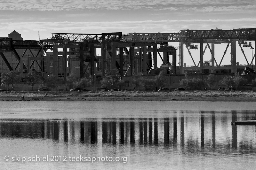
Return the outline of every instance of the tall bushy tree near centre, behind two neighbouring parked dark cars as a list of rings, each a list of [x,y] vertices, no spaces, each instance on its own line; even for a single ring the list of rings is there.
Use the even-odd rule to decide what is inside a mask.
[[[105,69],[105,77],[102,79],[102,84],[111,89],[118,86],[118,81],[121,80],[119,71],[114,69]]]

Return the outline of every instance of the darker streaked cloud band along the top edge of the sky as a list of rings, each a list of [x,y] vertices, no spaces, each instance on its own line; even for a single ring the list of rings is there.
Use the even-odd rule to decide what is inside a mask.
[[[2,11],[255,9],[254,0],[0,0]],[[207,10],[208,9],[208,10]]]

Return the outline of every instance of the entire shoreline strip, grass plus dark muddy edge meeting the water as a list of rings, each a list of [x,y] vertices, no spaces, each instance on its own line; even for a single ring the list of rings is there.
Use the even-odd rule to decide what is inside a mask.
[[[0,101],[210,101],[256,102],[254,91],[0,92]]]

